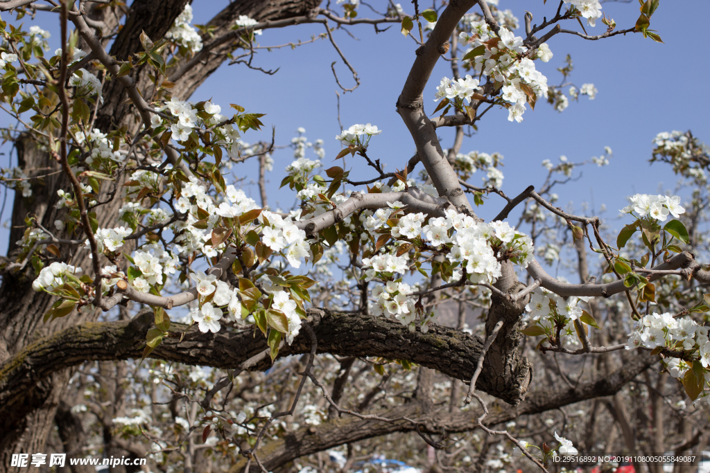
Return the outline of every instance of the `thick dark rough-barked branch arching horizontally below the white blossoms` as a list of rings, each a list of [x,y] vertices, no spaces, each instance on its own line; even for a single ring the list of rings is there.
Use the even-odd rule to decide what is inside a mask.
[[[376,316],[311,309],[308,321],[317,335],[318,352],[410,360],[456,379],[471,379],[483,345],[480,338],[452,328],[435,326],[427,333],[410,332],[398,321]],[[4,413],[21,409],[18,406],[28,391],[60,369],[89,360],[141,357],[146,334],[152,326],[153,313],[147,312],[132,321],[75,325],[28,345],[0,366],[0,419]],[[237,333],[223,328],[219,333],[200,333],[195,327],[178,323],[170,328],[175,332],[163,339],[151,357],[186,365],[234,369],[268,348],[266,339],[254,337],[253,330]],[[180,342],[181,333],[188,328]],[[311,347],[310,338],[302,333],[292,345],[285,345],[279,356],[307,353]],[[523,369],[529,370],[527,360],[522,360]],[[271,361],[265,357],[255,368],[270,366]],[[532,373],[529,375],[531,377]],[[527,385],[520,385],[515,377],[501,377],[487,366],[481,372],[478,387],[513,405],[523,399],[527,389]]]

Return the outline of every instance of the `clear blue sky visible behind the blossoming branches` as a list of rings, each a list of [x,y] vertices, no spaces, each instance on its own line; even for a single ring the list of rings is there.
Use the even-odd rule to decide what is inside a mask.
[[[222,9],[226,0],[195,0],[194,23],[204,23]],[[378,2],[380,4],[382,2]],[[503,9],[511,9],[522,20],[528,9],[540,22],[542,16],[552,16],[557,2],[542,0],[501,0]],[[412,6],[404,3],[405,11]],[[638,5],[632,3],[605,3],[603,11],[616,20],[618,28],[633,26],[638,17]],[[411,12],[410,12],[411,13]],[[369,16],[366,6],[360,8],[361,16]],[[571,80],[577,85],[594,83],[599,89],[594,101],[582,97],[579,103],[570,104],[563,113],[554,111],[547,104],[537,110],[528,110],[523,123],[507,121],[507,111],[493,109],[479,123],[479,132],[464,140],[462,152],[480,150],[501,152],[505,156],[503,172],[506,179],[503,191],[508,195],[518,194],[530,184],[539,186],[545,177],[540,162],[550,159],[557,162],[560,155],[579,162],[599,156],[604,146],[613,149],[614,157],[608,167],[587,166],[583,175],[574,184],[559,187],[560,204],[574,201],[594,201],[594,206],[605,203],[616,209],[626,205],[626,196],[635,192],[655,193],[659,184],[667,189],[674,187],[675,177],[669,167],[648,164],[652,138],[660,131],[692,129],[701,140],[710,140],[710,128],[706,110],[710,98],[706,91],[706,78],[710,65],[701,49],[706,18],[710,17],[710,2],[704,0],[661,1],[660,8],[651,19],[651,28],[658,30],[665,44],[654,43],[641,35],[626,35],[600,41],[586,41],[572,35],[557,35],[550,40],[555,56],[547,64],[536,62],[537,69],[547,75],[551,84],[561,76],[555,69],[562,66],[568,53],[574,60]],[[4,13],[8,21],[9,15]],[[38,13],[35,21],[23,19],[26,26],[38,24],[53,33],[50,41],[57,46],[58,27],[54,13]],[[579,25],[567,23],[565,28],[579,29]],[[297,40],[308,40],[311,35],[323,31],[322,25],[300,25],[283,29],[265,30],[258,37],[261,45],[279,45]],[[603,31],[601,22],[589,33]],[[356,91],[342,94],[340,111],[343,126],[354,123],[373,123],[383,130],[371,141],[368,154],[388,163],[386,170],[403,167],[414,153],[413,142],[403,122],[395,111],[395,101],[414,60],[416,49],[413,41],[399,33],[398,26],[376,34],[371,26],[350,28],[351,38],[342,30],[334,32],[334,38],[361,77],[361,86]],[[594,33],[593,33],[594,32]],[[523,34],[522,30],[518,34]],[[327,152],[325,167],[330,167],[340,149],[334,136],[339,133],[337,122],[337,84],[332,77],[330,65],[337,61],[339,79],[351,87],[352,78],[339,60],[337,52],[327,40],[304,45],[295,50],[283,48],[267,52],[262,50],[255,64],[264,69],[280,67],[278,73],[268,76],[249,70],[243,65],[223,65],[212,77],[197,89],[192,99],[209,99],[221,104],[223,111],[230,103],[240,104],[248,111],[266,113],[263,133],[250,131],[244,140],[254,142],[271,138],[271,126],[276,128],[276,142],[286,145],[298,127],[307,130],[310,140],[322,138]],[[451,77],[448,63],[439,61],[425,92],[425,107],[429,113],[435,108],[435,87],[442,76]],[[0,118],[2,126],[9,122]],[[447,148],[452,141],[452,130],[441,130],[442,146]],[[2,149],[9,151],[6,145]],[[272,206],[293,204],[293,194],[288,189],[276,191],[283,178],[283,168],[292,160],[290,150],[275,152],[274,172],[268,179],[274,189],[269,193]],[[0,157],[0,165],[6,167],[8,156]],[[354,167],[354,178],[373,177],[364,162],[347,162]],[[246,177],[248,183],[256,167],[246,163],[234,167],[236,177]],[[480,184],[480,176],[474,175],[471,182]],[[245,189],[258,199],[256,186]],[[11,194],[9,203],[11,202]],[[496,215],[503,202],[493,196],[479,208],[484,218]],[[11,205],[5,208],[2,221],[8,221]],[[0,231],[0,247],[6,248],[6,230]]]

